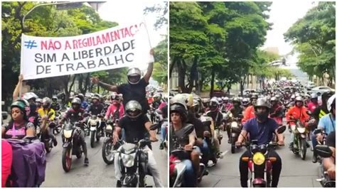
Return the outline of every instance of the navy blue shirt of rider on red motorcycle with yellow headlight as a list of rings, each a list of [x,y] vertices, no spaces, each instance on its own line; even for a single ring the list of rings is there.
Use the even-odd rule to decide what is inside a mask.
[[[274,119],[268,118],[267,121],[260,123],[257,118],[248,119],[243,125],[243,130],[250,134],[250,140],[257,140],[257,144],[268,144],[272,141],[272,134],[279,127]]]

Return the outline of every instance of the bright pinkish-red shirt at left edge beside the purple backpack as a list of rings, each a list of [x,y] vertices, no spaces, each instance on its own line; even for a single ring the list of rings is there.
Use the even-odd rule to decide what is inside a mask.
[[[13,153],[11,150],[11,144],[6,140],[1,140],[1,188],[5,187],[6,180],[11,174],[11,161]]]

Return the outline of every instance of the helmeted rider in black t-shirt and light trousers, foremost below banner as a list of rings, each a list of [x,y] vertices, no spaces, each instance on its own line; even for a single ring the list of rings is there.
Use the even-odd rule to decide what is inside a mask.
[[[148,135],[150,136],[150,141],[158,141],[156,132],[150,130],[151,121],[146,115],[142,114],[141,104],[139,104],[139,102],[135,100],[127,102],[125,105],[125,112],[126,116],[119,120],[114,130],[114,144],[119,140],[119,134],[122,129],[125,130],[125,141],[127,143],[137,144],[138,141],[144,139]],[[154,178],[154,184],[156,185],[156,188],[163,188],[164,185],[161,183],[159,169],[157,168],[156,160],[154,159],[154,153],[149,146],[146,146],[145,148],[148,152],[148,166],[149,171]],[[122,172],[119,166],[119,153],[114,155],[114,173],[117,179],[117,188],[120,188],[122,186]]]

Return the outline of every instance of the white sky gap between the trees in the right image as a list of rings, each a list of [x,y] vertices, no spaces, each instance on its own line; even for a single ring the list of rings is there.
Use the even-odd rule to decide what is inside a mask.
[[[316,2],[313,4],[312,1],[273,1],[268,19],[269,23],[273,23],[273,26],[272,30],[267,31],[267,40],[264,42],[262,49],[277,47],[279,48],[279,55],[290,53],[293,46],[284,41],[283,34],[316,4]],[[287,63],[292,68],[296,68],[297,55],[295,53],[287,58]]]

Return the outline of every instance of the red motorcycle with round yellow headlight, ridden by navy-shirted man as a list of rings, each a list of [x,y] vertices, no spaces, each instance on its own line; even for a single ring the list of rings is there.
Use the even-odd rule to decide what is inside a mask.
[[[286,126],[279,126],[278,134],[282,134],[286,130]],[[269,157],[270,148],[278,146],[278,144],[269,143],[257,145],[257,140],[246,142],[245,145],[252,154],[251,157],[242,157],[242,161],[248,162],[250,174],[250,188],[269,188],[272,180],[272,162],[277,161],[275,157]]]

